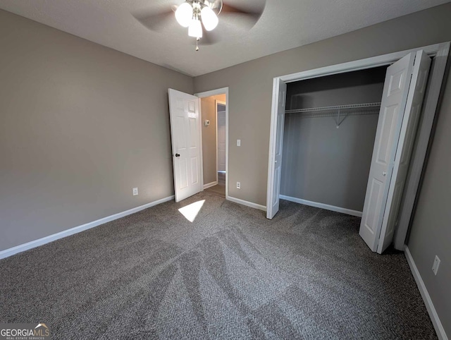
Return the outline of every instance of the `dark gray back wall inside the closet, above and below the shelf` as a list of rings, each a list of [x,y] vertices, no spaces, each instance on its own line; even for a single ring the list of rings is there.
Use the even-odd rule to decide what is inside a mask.
[[[289,83],[288,109],[381,102],[386,69]],[[362,212],[378,114],[337,121],[285,115],[280,194]]]

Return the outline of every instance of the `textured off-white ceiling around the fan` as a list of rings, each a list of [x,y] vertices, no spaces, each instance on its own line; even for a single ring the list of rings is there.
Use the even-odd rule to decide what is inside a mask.
[[[243,0],[224,0],[242,4]],[[246,0],[261,2],[264,0]],[[168,17],[161,32],[147,29],[132,13],[168,10],[183,0],[0,0],[0,8],[106,47],[187,75],[202,75],[278,51],[316,42],[449,0],[267,0],[252,29],[219,16],[226,37],[194,51],[187,28]]]

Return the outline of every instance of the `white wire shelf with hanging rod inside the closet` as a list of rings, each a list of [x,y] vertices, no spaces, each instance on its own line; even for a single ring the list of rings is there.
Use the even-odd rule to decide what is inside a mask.
[[[363,104],[348,104],[335,105],[333,107],[309,107],[307,109],[285,110],[285,114],[303,114],[302,116],[335,116],[337,111],[342,114],[375,114],[379,112],[381,103],[363,103]],[[334,112],[330,112],[334,111]],[[320,114],[317,114],[320,113]],[[321,114],[322,113],[322,114]]]

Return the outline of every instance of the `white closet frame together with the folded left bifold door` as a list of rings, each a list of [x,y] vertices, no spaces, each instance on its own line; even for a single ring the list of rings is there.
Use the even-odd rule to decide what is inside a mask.
[[[369,59],[342,63],[335,66],[327,66],[315,70],[294,73],[274,78],[273,82],[273,105],[271,110],[271,130],[270,130],[270,147],[268,157],[268,188],[267,188],[267,217],[271,219],[278,211],[278,200],[280,195],[280,172],[282,158],[282,140],[283,140],[283,123],[285,118],[285,98],[287,83],[306,80],[311,78],[319,78],[325,75],[333,75],[350,71],[359,71],[377,66],[388,66],[395,61],[412,52],[424,50],[428,56],[433,58],[431,68],[431,77],[428,80],[428,92],[424,98],[424,109],[421,126],[419,127],[416,138],[416,148],[412,163],[410,166],[409,181],[405,186],[404,197],[406,198],[402,205],[400,217],[398,219],[397,235],[395,238],[395,248],[402,249],[404,247],[405,236],[409,228],[409,220],[412,215],[416,191],[419,187],[421,171],[426,158],[428,140],[431,136],[431,128],[435,116],[435,110],[438,104],[438,96],[443,81],[447,55],[450,43],[435,44],[419,49],[409,51],[400,51],[384,56],[376,56]],[[282,128],[280,128],[282,126]]]

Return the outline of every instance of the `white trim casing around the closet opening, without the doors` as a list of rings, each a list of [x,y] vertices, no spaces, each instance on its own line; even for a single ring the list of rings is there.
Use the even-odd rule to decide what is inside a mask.
[[[292,83],[298,80],[307,80],[311,78],[319,78],[326,75],[334,75],[338,73],[347,73],[351,71],[359,71],[367,68],[375,68],[378,66],[388,66],[395,61],[398,61],[406,54],[419,51],[423,49],[428,56],[435,57],[429,73],[428,86],[426,89],[426,96],[422,109],[422,117],[420,121],[419,130],[416,135],[416,147],[412,154],[412,161],[409,165],[409,178],[404,188],[404,199],[400,209],[400,218],[398,221],[397,232],[395,235],[395,248],[404,250],[404,243],[409,230],[410,220],[416,202],[416,193],[419,189],[421,181],[421,174],[424,168],[428,152],[428,143],[431,138],[433,121],[435,119],[435,111],[438,107],[438,99],[440,96],[440,89],[442,87],[443,78],[445,75],[445,68],[447,64],[448,54],[450,53],[450,42],[443,42],[440,44],[432,44],[426,47],[418,47],[415,49],[407,49],[404,51],[397,51],[390,54],[383,54],[381,56],[373,56],[371,58],[360,59],[357,61],[350,61],[347,63],[339,63],[337,65],[326,66],[321,68],[314,68],[308,71],[291,73],[288,75],[280,75],[273,78],[273,103],[271,105],[271,129],[269,135],[269,152],[268,152],[268,186],[266,188],[266,208],[269,210],[272,202],[270,181],[274,177],[273,164],[273,150],[276,149],[276,136],[274,135],[277,124],[277,103],[274,103],[276,93],[279,90],[279,83]],[[280,195],[280,193],[279,193]],[[268,217],[268,213],[266,214]]]

